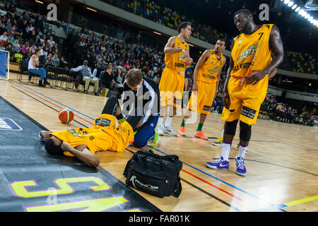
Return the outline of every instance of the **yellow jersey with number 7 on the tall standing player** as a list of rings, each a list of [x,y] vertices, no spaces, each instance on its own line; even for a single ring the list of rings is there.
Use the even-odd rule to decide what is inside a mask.
[[[240,34],[235,37],[232,48],[234,67],[231,76],[245,78],[252,75],[252,71],[261,71],[271,63],[269,36],[273,24],[264,24],[252,35]]]

